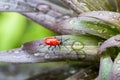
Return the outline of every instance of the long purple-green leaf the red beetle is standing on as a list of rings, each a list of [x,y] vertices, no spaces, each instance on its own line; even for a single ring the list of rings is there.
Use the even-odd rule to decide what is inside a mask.
[[[91,35],[56,36],[63,44],[46,45],[43,39],[25,43],[21,48],[0,52],[1,62],[30,63],[48,61],[98,61],[97,49],[101,38]],[[49,49],[48,49],[49,48]]]

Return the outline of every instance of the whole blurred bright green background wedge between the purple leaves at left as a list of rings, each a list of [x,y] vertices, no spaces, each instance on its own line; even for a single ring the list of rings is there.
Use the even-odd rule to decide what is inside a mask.
[[[0,50],[20,47],[21,44],[56,33],[13,12],[0,13]]]

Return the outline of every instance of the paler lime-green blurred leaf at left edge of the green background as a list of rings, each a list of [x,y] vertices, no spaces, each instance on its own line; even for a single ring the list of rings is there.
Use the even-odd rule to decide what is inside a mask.
[[[4,13],[2,17],[0,50],[20,46],[27,20],[18,13]]]

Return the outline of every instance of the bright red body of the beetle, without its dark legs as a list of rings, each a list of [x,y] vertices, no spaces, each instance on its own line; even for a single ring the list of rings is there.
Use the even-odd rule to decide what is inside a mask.
[[[57,46],[60,45],[61,41],[58,40],[57,38],[46,38],[45,39],[45,44],[49,45],[49,46]]]

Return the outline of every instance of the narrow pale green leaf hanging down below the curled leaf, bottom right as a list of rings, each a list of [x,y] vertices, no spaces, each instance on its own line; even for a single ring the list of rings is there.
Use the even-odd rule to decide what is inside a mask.
[[[104,53],[100,59],[100,69],[98,80],[109,80],[111,75],[111,70],[113,66],[113,61],[107,53]]]

